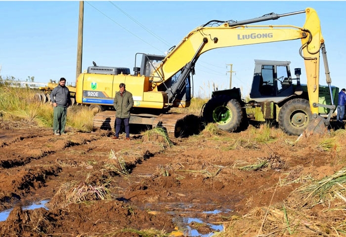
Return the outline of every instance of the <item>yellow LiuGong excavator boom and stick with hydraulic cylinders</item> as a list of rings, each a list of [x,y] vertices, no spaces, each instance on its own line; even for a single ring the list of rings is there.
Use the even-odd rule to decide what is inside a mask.
[[[276,20],[280,17],[302,13],[306,14],[303,27],[292,25],[251,25],[257,22]],[[217,26],[213,26],[215,24]],[[169,52],[162,63],[153,72],[152,76],[160,75],[161,78],[156,81],[152,79],[152,81],[154,81],[153,90],[155,91],[155,86],[159,86],[166,80],[171,79],[177,72],[181,71],[177,82],[172,88],[168,88],[166,91],[169,101],[172,102],[183,88],[188,75],[194,73],[194,66],[199,56],[211,49],[299,39],[302,41],[299,52],[305,63],[310,108],[312,114],[317,115],[319,52],[321,48],[329,86],[331,84],[331,79],[329,76],[320,20],[316,11],[312,8],[281,15],[271,13],[239,22],[214,20],[194,29]]]

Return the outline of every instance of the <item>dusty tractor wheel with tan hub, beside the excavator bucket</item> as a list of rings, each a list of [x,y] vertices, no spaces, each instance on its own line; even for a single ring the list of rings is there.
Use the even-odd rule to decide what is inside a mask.
[[[310,104],[307,100],[297,98],[282,106],[279,112],[279,127],[289,135],[299,136],[312,119]]]

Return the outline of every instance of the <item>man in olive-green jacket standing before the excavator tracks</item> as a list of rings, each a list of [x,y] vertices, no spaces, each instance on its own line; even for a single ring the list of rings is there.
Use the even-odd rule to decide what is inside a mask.
[[[130,109],[133,106],[132,94],[125,89],[125,84],[119,84],[119,91],[115,94],[113,101],[115,114],[115,136],[113,139],[119,138],[121,123],[124,121],[126,140],[130,140]]]

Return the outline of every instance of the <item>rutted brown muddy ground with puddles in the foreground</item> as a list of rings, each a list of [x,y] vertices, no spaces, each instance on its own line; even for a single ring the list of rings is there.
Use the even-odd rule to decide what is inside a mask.
[[[127,141],[103,130],[56,136],[48,128],[0,129],[0,210],[14,207],[0,236],[206,236],[213,225],[280,202],[300,185],[278,182],[341,168],[340,155],[316,149],[323,138],[295,143],[282,133],[256,142],[254,131],[261,132],[202,131],[174,138],[170,147],[140,133]],[[258,160],[270,166],[237,168]],[[46,208],[22,208],[40,200],[48,200]]]

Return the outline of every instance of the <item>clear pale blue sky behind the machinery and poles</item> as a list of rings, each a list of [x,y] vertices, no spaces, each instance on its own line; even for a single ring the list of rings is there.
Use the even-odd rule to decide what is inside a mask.
[[[164,54],[196,27],[209,20],[245,20],[275,12],[314,8],[321,21],[332,85],[344,88],[346,1],[85,1],[82,71],[100,66],[130,68],[137,52]],[[0,75],[36,82],[64,77],[75,82],[79,1],[0,1]],[[305,14],[281,17],[261,25],[302,27]],[[194,95],[209,96],[213,83],[249,94],[254,60],[291,61],[302,68],[300,40],[227,47],[201,55],[194,76]],[[321,58],[322,59],[322,58]],[[322,61],[321,61],[322,62]],[[320,65],[320,84],[326,84]]]

